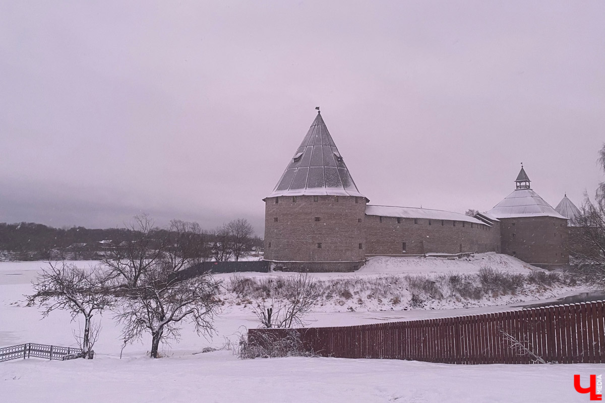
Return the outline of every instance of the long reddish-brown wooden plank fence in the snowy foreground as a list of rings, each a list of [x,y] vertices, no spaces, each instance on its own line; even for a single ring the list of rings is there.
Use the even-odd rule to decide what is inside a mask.
[[[296,332],[304,349],[342,358],[450,364],[605,363],[604,302],[345,327],[250,329],[251,343]]]

